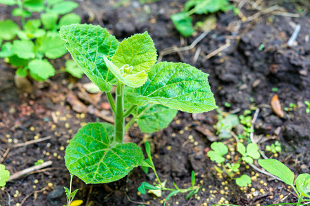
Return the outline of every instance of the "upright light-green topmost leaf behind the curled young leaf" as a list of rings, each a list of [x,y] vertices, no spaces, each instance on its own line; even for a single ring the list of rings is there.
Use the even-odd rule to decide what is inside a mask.
[[[156,62],[157,54],[153,40],[147,32],[125,38],[116,49],[112,62],[116,67],[132,66],[132,73],[151,69]]]

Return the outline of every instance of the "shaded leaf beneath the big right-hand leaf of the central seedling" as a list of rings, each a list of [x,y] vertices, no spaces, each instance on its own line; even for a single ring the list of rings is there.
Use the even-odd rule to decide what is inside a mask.
[[[159,104],[138,106],[132,115],[138,117],[136,123],[143,133],[154,133],[166,128],[176,117],[178,111]]]

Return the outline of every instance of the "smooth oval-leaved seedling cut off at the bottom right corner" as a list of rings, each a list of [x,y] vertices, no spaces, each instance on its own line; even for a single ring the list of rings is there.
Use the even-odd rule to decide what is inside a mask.
[[[300,174],[296,178],[296,187],[293,185],[295,175],[287,166],[276,159],[259,159],[262,168],[278,176],[287,185],[290,185],[298,196],[297,206],[304,201],[310,201],[310,174]]]

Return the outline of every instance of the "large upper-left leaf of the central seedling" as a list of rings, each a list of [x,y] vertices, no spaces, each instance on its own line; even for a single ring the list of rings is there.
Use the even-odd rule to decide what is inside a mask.
[[[100,26],[77,24],[61,27],[60,34],[76,65],[101,91],[110,91],[109,82],[114,76],[107,69],[103,55],[114,55],[118,47],[115,36]]]

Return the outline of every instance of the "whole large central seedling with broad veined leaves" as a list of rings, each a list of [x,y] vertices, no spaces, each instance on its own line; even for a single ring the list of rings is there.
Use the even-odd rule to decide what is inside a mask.
[[[168,126],[177,110],[202,113],[217,107],[207,73],[184,63],[155,64],[156,49],[147,32],[121,43],[94,25],[63,26],[60,34],[76,65],[105,91],[115,116],[114,126],[83,126],[65,150],[69,172],[85,183],[117,181],[143,163],[141,148],[124,143],[134,122],[142,132],[152,133]]]

